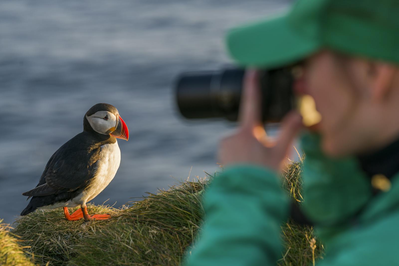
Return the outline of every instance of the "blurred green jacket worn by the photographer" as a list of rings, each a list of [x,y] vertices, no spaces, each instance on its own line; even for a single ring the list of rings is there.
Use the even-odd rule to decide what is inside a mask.
[[[389,191],[372,197],[370,179],[355,158],[326,157],[314,134],[302,137],[302,148],[302,211],[316,223],[326,250],[318,265],[399,265],[399,175]],[[185,265],[276,265],[280,225],[289,212],[277,173],[231,167],[204,197],[203,231]]]

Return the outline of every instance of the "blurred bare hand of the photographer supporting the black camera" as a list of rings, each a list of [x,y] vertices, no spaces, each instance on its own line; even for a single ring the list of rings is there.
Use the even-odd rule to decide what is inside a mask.
[[[252,164],[279,170],[287,156],[292,140],[302,126],[302,118],[296,111],[288,113],[276,141],[266,136],[261,122],[261,97],[258,87],[258,73],[248,70],[245,74],[244,92],[241,100],[240,128],[232,136],[221,140],[219,163]]]

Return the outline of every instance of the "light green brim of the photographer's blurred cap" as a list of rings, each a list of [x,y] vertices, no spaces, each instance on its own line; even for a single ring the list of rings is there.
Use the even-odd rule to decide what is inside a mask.
[[[317,51],[320,43],[299,35],[288,25],[286,16],[231,30],[227,49],[240,65],[280,67]]]

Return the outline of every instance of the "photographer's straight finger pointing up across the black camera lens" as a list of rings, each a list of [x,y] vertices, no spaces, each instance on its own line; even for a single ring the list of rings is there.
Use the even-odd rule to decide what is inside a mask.
[[[261,91],[259,73],[255,69],[249,69],[245,73],[239,120],[242,128],[251,130],[261,123]]]

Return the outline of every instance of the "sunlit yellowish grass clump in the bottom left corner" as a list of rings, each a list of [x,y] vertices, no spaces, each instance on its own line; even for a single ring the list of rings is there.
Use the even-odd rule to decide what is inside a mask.
[[[12,227],[1,223],[0,220],[0,265],[9,266],[34,266],[31,259],[26,256],[26,248],[21,246],[13,233]]]

